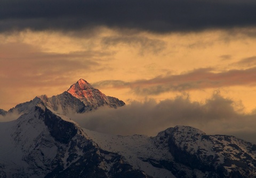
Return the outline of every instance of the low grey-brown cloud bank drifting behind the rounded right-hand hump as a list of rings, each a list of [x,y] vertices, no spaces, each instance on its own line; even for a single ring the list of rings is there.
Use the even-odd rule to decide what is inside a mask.
[[[235,135],[256,143],[256,113],[245,114],[241,105],[239,108],[216,92],[203,104],[178,96],[160,103],[133,101],[118,109],[100,108],[70,117],[83,128],[110,134],[154,136],[175,125],[189,125],[206,134]]]

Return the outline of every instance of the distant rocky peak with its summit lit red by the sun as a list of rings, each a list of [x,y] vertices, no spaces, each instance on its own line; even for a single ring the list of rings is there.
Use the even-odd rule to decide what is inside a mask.
[[[122,100],[106,96],[98,89],[93,88],[91,84],[84,79],[80,79],[60,95],[50,98],[46,95],[37,96],[31,101],[15,106],[10,109],[9,112],[27,113],[31,107],[34,107],[38,103],[44,104],[62,114],[84,113],[101,106],[117,108],[125,105]]]

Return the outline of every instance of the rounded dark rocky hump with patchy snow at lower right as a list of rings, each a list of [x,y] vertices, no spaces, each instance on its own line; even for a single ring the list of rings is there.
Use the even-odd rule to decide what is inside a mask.
[[[176,126],[158,133],[155,140],[168,145],[176,163],[201,171],[202,177],[256,176],[256,145],[242,139]]]

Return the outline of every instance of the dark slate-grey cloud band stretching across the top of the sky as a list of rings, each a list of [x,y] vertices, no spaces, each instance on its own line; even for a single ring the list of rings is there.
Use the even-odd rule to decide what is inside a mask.
[[[98,26],[153,32],[255,27],[252,0],[3,0],[0,31]]]

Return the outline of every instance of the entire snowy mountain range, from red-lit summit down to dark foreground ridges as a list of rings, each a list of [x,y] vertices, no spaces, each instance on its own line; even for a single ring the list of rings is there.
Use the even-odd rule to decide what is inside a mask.
[[[21,115],[0,123],[0,177],[256,177],[256,145],[233,136],[190,126],[156,137],[110,135],[65,115],[103,105],[124,103],[81,79],[60,95],[10,109]]]

